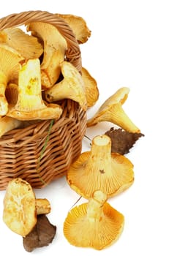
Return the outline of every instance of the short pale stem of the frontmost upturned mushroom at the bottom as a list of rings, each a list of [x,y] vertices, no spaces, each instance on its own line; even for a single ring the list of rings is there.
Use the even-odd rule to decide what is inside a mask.
[[[89,222],[100,221],[102,219],[102,206],[106,202],[107,197],[102,191],[95,191],[93,197],[89,200],[87,206],[87,217]]]

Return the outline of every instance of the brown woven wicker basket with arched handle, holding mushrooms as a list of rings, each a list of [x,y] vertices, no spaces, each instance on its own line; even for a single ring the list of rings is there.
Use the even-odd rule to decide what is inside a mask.
[[[20,12],[0,19],[0,30],[30,22],[50,23],[67,40],[66,60],[81,70],[80,48],[62,18],[44,11]],[[0,190],[12,178],[23,178],[34,188],[42,188],[64,176],[81,153],[86,132],[86,112],[77,102],[64,99],[62,116],[40,121],[23,129],[13,129],[0,138]]]

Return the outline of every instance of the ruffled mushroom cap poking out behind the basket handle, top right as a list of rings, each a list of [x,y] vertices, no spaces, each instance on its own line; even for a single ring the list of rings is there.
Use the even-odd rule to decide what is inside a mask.
[[[72,29],[79,44],[86,42],[91,36],[91,31],[86,25],[86,21],[82,17],[69,14],[57,14],[63,18]]]

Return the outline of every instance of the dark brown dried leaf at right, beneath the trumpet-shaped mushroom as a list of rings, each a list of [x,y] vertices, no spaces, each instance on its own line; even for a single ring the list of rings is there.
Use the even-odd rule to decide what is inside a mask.
[[[111,152],[117,152],[119,154],[129,153],[129,149],[135,144],[135,142],[143,135],[143,133],[127,132],[121,128],[110,128],[105,135],[111,138]]]

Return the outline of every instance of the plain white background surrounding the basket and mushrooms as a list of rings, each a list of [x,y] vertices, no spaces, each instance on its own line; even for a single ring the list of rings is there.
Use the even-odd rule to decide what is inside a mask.
[[[109,200],[125,217],[124,231],[116,244],[97,251],[67,242],[63,222],[79,196],[61,178],[35,190],[37,197],[50,200],[48,218],[57,226],[57,233],[52,244],[31,255],[177,255],[176,1],[6,0],[0,16],[28,10],[79,15],[86,20],[91,37],[80,46],[83,67],[99,87],[99,100],[88,117],[117,89],[127,86],[130,92],[124,110],[145,135],[127,154],[134,164],[135,183]],[[93,138],[110,127],[112,124],[102,123],[86,133]],[[83,151],[89,148],[89,141],[83,139]],[[1,191],[0,253],[29,255],[22,238],[2,222],[3,198]]]

